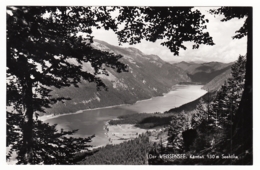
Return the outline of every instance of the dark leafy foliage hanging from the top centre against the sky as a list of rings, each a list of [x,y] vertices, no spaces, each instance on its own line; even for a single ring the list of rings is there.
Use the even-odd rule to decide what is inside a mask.
[[[119,10],[118,23],[124,28],[117,31],[120,42],[140,43],[142,39],[168,47],[174,55],[186,50],[184,41],[193,41],[193,49],[200,44],[214,45],[206,29],[209,22],[199,10],[192,7],[123,7]]]

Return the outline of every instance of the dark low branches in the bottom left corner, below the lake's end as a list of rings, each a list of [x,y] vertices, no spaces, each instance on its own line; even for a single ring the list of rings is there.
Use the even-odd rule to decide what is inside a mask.
[[[17,150],[17,164],[74,164],[75,155],[77,153],[82,150],[90,151],[89,148],[91,146],[88,143],[91,142],[91,139],[94,137],[69,137],[69,135],[72,135],[77,130],[63,131],[61,129],[61,131],[58,132],[56,125],[49,125],[40,120],[34,120],[32,131],[33,141],[31,143],[30,160],[28,162],[24,160],[23,154],[21,154],[23,151],[21,150],[21,148],[23,148],[23,142],[20,142],[22,141],[22,136],[20,135],[18,136],[19,138],[14,139],[15,142],[18,141],[12,146],[12,150]],[[10,156],[11,152],[8,157]]]

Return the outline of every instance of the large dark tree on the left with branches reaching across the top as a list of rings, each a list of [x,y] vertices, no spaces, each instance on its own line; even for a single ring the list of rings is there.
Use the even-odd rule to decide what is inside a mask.
[[[119,15],[113,19],[116,9]],[[105,67],[127,70],[120,55],[91,47],[93,27],[112,29],[123,43],[162,39],[178,55],[185,41],[193,41],[193,48],[214,45],[204,31],[206,22],[192,7],[7,7],[7,144],[19,150],[21,163],[34,163],[34,128],[42,128],[38,113],[67,99],[52,98],[51,87],[77,86],[82,79],[105,87],[96,76],[108,74]],[[84,71],[83,62],[90,62],[95,73]]]

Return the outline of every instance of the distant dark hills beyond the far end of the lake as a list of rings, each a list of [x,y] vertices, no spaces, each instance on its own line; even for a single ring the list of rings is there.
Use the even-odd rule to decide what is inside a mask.
[[[208,63],[195,63],[195,62],[180,62],[175,63],[173,66],[182,68],[192,82],[207,84],[215,77],[231,69],[233,63],[221,63],[221,62],[208,62]],[[230,72],[230,71],[229,71]],[[221,77],[221,76],[220,76]],[[225,76],[222,75],[224,78]],[[221,79],[221,78],[219,78]]]

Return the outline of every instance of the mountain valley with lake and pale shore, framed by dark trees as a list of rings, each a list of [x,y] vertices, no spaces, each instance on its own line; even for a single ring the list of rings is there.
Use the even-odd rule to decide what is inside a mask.
[[[214,92],[220,88],[229,77],[232,65],[219,62],[170,64],[156,55],[146,55],[135,48],[117,47],[100,40],[95,40],[93,47],[123,55],[120,60],[128,66],[129,71],[117,73],[106,68],[108,75],[98,76],[106,84],[107,90],[97,90],[95,84],[87,81],[79,84],[78,88],[55,89],[54,96],[70,97],[72,100],[47,109],[48,114],[40,119],[58,124],[59,129],[79,129],[75,137],[95,134],[91,143],[94,146],[121,143],[144,133],[144,129],[169,124],[166,123],[166,119],[170,120],[171,117],[169,113],[193,111],[199,103],[198,98],[205,98],[203,95],[207,91]],[[89,63],[83,63],[83,69],[93,71]],[[149,124],[148,121],[148,124],[138,125],[138,121],[145,117],[151,118],[146,114],[154,113],[167,115],[162,117],[161,124]],[[141,114],[144,118],[139,119],[139,115],[135,114]],[[121,120],[116,119],[128,115],[137,116],[136,122],[127,122],[131,120],[127,118],[126,122],[121,122],[123,126],[118,127]],[[116,126],[113,125],[115,122]],[[124,126],[127,128],[122,128]],[[120,129],[122,132],[119,132]],[[121,137],[116,137],[116,133]]]

